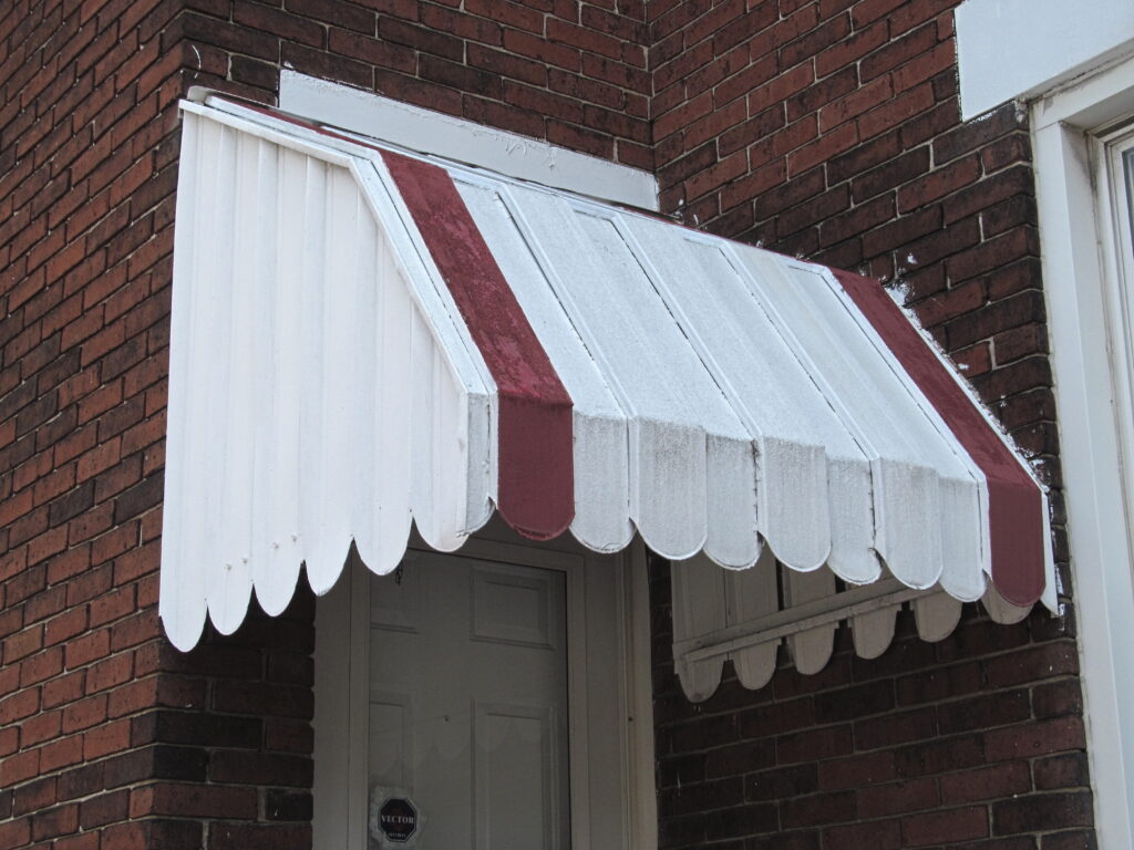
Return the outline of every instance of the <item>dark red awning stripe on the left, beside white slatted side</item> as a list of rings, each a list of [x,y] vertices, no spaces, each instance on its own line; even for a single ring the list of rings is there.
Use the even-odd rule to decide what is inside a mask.
[[[497,383],[497,508],[521,534],[555,537],[575,517],[570,396],[449,173],[388,151],[382,159]]]

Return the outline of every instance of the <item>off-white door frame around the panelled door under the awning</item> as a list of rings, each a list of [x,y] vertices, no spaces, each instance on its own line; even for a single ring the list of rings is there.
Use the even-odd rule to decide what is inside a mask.
[[[412,542],[407,569],[429,551],[420,541]],[[601,555],[569,539],[523,542],[493,521],[446,556],[565,575],[572,848],[657,848],[650,602],[641,539],[621,553]],[[352,554],[338,584],[316,603],[313,833],[318,848],[367,848],[371,587],[371,573]],[[589,615],[613,618],[617,646],[595,645],[596,630],[586,626]],[[617,678],[617,694],[596,687],[603,675]],[[609,709],[611,698],[618,700],[617,712]],[[616,794],[610,793],[611,783],[618,787]]]

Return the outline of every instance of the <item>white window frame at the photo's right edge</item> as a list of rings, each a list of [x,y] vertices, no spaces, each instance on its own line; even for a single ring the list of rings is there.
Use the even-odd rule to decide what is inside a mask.
[[[1061,432],[1084,717],[1103,848],[1134,847],[1134,583],[1110,357],[1116,281],[1100,246],[1099,128],[1134,113],[1134,58],[1032,104],[1040,244]],[[1124,451],[1125,449],[1125,451]]]

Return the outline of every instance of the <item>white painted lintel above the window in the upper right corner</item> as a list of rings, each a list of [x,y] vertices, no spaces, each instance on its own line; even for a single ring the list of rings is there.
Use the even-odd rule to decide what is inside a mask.
[[[965,119],[1134,52],[1129,0],[965,0],[956,27]]]

